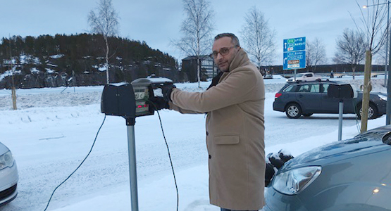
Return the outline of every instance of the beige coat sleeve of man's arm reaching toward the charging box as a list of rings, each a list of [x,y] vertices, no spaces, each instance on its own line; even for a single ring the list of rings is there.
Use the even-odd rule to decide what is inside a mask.
[[[175,106],[185,110],[206,113],[249,100],[254,96],[256,83],[259,82],[256,70],[250,67],[237,68],[230,72],[222,82],[202,93],[174,89],[171,99]]]

